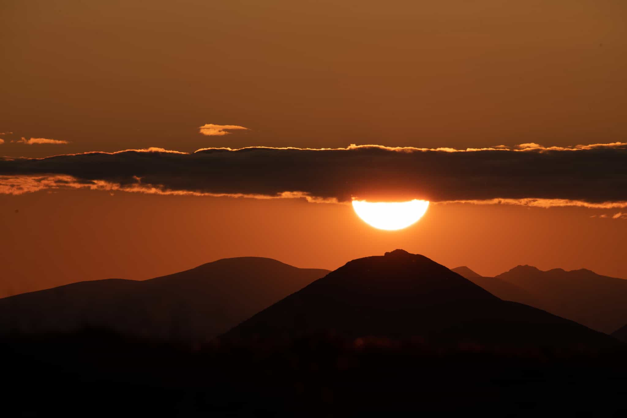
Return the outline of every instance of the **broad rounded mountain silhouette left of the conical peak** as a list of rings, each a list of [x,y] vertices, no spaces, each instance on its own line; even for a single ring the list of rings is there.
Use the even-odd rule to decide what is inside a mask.
[[[145,281],[82,281],[0,299],[0,334],[107,328],[148,339],[209,340],[327,273],[239,257]]]

